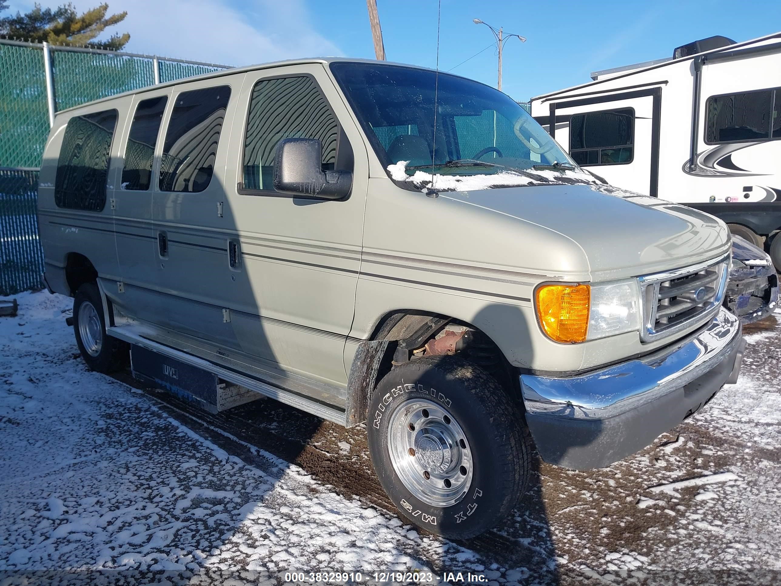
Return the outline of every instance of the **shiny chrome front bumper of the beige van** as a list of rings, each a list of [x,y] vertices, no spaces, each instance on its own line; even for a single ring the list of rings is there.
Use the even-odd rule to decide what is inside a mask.
[[[540,456],[577,470],[608,466],[651,444],[734,383],[745,341],[726,309],[701,331],[647,356],[576,377],[521,375]]]

